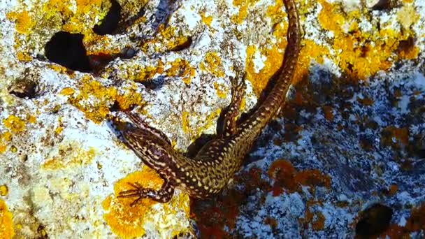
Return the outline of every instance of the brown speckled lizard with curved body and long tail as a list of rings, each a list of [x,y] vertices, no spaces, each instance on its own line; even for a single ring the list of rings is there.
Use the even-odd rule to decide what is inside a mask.
[[[250,152],[257,136],[271,120],[284,102],[300,50],[301,26],[294,0],[284,0],[289,28],[288,45],[284,52],[282,72],[264,103],[244,122],[237,124],[240,102],[245,92],[245,77],[234,83],[229,111],[224,115],[224,129],[217,138],[210,140],[192,159],[176,152],[168,138],[150,126],[134,113],[127,113],[137,126],[123,132],[125,142],[136,152],[147,166],[156,170],[164,184],[161,189],[143,188],[137,182],[130,189],[121,191],[118,197],[135,197],[135,205],[141,198],[152,198],[165,203],[171,199],[174,189],[185,191],[193,198],[206,198],[221,191],[239,170],[245,155]],[[238,74],[236,74],[238,78]]]

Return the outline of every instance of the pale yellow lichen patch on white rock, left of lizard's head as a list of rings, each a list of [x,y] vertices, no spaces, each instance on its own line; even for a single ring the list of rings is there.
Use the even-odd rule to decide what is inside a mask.
[[[89,147],[88,150],[82,149],[78,146],[77,142],[60,145],[58,151],[57,155],[53,155],[46,159],[41,164],[41,167],[49,170],[58,170],[83,166],[89,164],[96,155],[94,147]]]

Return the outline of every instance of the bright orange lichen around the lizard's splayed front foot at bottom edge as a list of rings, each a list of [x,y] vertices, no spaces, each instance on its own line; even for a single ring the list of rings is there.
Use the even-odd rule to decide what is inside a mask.
[[[114,185],[115,195],[119,194],[120,191],[132,189],[129,186],[129,182],[138,182],[143,187],[160,189],[164,180],[162,180],[155,171],[144,166],[142,171],[136,171],[130,173],[127,177],[122,178]],[[152,201],[150,198],[143,198],[133,207],[130,204],[136,198],[114,198],[108,196],[102,203],[103,209],[107,210],[103,215],[106,223],[110,226],[110,229],[121,236],[122,238],[134,238],[143,236],[145,234],[145,220],[146,222],[154,222],[154,226],[166,226],[168,214],[176,214],[177,211],[184,212],[189,215],[189,197],[185,194],[180,194],[179,197],[173,197],[170,202],[163,203],[164,215],[161,219],[150,219],[150,214],[154,209],[152,205],[157,204],[156,201]],[[182,209],[182,211],[180,210]],[[165,220],[165,222],[163,222]],[[159,225],[161,224],[161,225]],[[170,225],[168,225],[169,227]],[[177,233],[184,229],[176,226],[175,229],[171,230],[171,234]],[[169,237],[168,235],[167,237]]]

